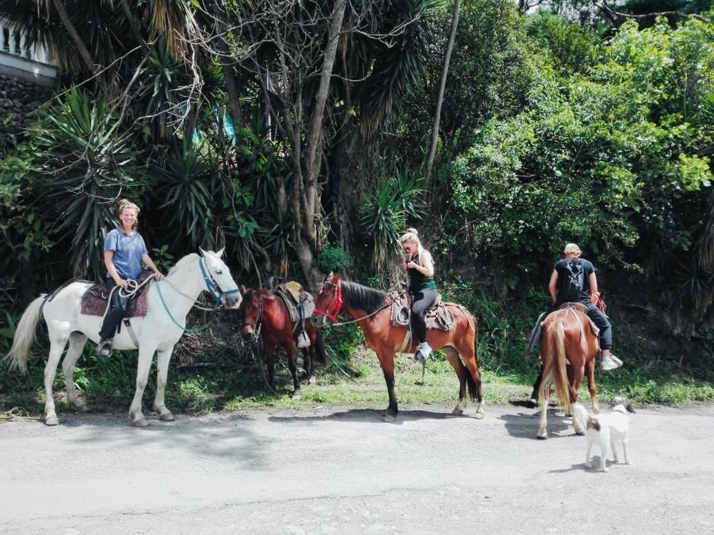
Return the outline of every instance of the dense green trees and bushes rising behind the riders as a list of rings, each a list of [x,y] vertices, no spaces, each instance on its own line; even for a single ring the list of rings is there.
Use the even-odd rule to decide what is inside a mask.
[[[530,14],[508,0],[463,2],[428,190],[446,1],[348,3],[329,78],[335,3],[295,4],[276,25],[271,2],[175,1],[162,17],[136,0],[131,20],[118,3],[74,2],[71,20],[107,69],[97,78],[52,9],[19,4],[0,11],[54,46],[64,85],[24,136],[0,140],[0,353],[30,297],[101,273],[116,200],[129,197],[159,265],[226,246],[236,279],[253,285],[313,284],[306,262],[383,284],[398,235],[416,225],[442,289],[478,315],[482,364],[522,382],[553,260],[579,243],[612,295],[615,348],[628,353],[620,386],[640,399],[712,397],[700,384],[665,394],[660,381],[711,380],[708,2],[635,20],[578,1]],[[620,9],[658,10],[630,4]],[[635,309],[646,327],[635,329]],[[348,367],[358,335],[336,344]],[[104,366],[90,363],[88,388],[126,394],[92,383]]]

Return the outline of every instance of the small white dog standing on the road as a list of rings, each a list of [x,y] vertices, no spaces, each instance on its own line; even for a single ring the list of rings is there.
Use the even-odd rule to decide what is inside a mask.
[[[580,410],[580,408],[582,410]],[[580,405],[580,408],[575,409],[575,406],[573,406],[573,417],[578,417],[580,421],[582,421],[585,407]],[[598,444],[600,447],[600,470],[603,472],[608,471],[607,467],[605,467],[608,444],[610,444],[610,449],[613,451],[615,462],[620,462],[618,459],[618,451],[615,449],[615,442],[618,440],[623,444],[625,464],[630,464],[630,459],[627,454],[630,419],[627,413],[635,412],[635,410],[625,402],[625,398],[623,397],[615,397],[610,408],[609,414],[594,414],[589,417],[586,423],[587,431],[585,432],[585,436],[588,438],[588,450],[585,452],[585,466],[588,468],[593,467],[593,464],[590,462],[590,449],[593,448],[593,444]],[[587,411],[585,411],[585,416],[587,416],[587,414]]]

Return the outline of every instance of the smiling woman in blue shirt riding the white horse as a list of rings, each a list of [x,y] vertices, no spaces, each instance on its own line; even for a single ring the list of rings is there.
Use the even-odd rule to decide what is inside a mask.
[[[99,330],[99,345],[96,350],[102,357],[111,355],[112,340],[116,326],[126,312],[127,299],[122,297],[120,290],[129,287],[129,279],[136,280],[141,275],[141,262],[143,261],[154,272],[156,280],[161,280],[164,275],[154,265],[154,260],[149,257],[144,238],[137,232],[139,223],[139,207],[129,200],[119,201],[119,226],[110,230],[104,239],[104,265],[106,266],[106,285],[119,288],[111,294],[110,310],[104,317],[104,322]]]

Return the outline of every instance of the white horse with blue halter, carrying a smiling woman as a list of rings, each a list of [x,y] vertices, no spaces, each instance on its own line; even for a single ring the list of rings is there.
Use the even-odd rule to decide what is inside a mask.
[[[238,308],[241,304],[241,292],[231,277],[231,271],[223,260],[223,249],[218,253],[201,250],[201,255],[186,255],[171,268],[163,281],[154,281],[149,287],[147,297],[148,312],[145,317],[131,318],[131,327],[136,334],[139,347],[131,339],[129,330],[124,328],[114,337],[114,349],[139,349],[139,366],[136,372],[136,392],[129,408],[129,421],[139,427],[149,425],[141,412],[141,397],[144,395],[149,367],[157,353],[158,372],[156,374],[156,399],[154,411],[165,421],[174,419],[174,414],[164,404],[166,376],[169,372],[169,360],[174,345],[181,338],[186,327],[186,315],[201,292],[213,295],[216,302],[223,302],[225,307]],[[56,425],[57,414],[54,411],[52,384],[57,365],[69,340],[69,350],[62,362],[64,379],[67,386],[67,399],[81,410],[86,404],[74,391],[74,365],[82,354],[87,339],[99,342],[100,316],[82,315],[81,298],[91,287],[87,282],[71,282],[61,288],[56,295],[41,295],[30,303],[20,318],[10,352],[5,359],[10,368],[19,367],[27,370],[27,358],[35,340],[35,330],[44,316],[49,331],[50,350],[44,372],[45,410],[47,425]]]

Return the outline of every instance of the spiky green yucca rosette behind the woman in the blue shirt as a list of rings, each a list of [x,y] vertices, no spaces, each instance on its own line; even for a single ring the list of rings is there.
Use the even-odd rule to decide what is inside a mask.
[[[79,88],[43,113],[28,133],[34,162],[31,190],[69,240],[75,276],[99,271],[106,230],[116,226],[116,200],[144,185],[135,133],[104,98],[92,102]],[[96,274],[96,273],[95,273]]]

